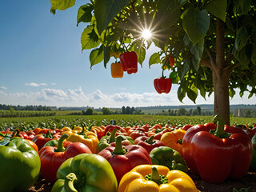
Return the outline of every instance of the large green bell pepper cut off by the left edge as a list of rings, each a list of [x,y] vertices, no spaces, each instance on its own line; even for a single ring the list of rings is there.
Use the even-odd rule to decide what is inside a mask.
[[[23,138],[0,139],[0,192],[27,191],[40,174],[38,153]]]

